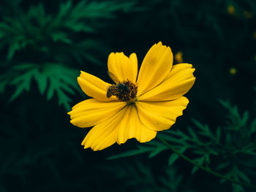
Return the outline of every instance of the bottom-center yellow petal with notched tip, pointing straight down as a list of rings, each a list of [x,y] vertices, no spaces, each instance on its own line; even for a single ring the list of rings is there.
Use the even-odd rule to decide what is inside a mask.
[[[135,106],[131,105],[127,107],[127,112],[124,114],[124,118],[118,124],[116,142],[127,142],[127,139],[135,138],[138,142],[148,142],[156,137],[157,131],[153,131],[141,123],[138,110]]]

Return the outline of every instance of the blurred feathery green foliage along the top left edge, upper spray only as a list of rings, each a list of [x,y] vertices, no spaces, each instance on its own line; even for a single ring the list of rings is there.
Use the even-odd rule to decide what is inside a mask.
[[[104,26],[104,20],[115,18],[114,12],[127,12],[134,4],[133,1],[121,4],[113,4],[112,1],[80,1],[72,5],[72,1],[67,1],[61,4],[56,15],[46,14],[43,5],[39,4],[21,15],[3,17],[0,23],[0,48],[8,47],[8,60],[12,59],[15,52],[28,47],[41,54],[54,55],[61,54],[60,51],[72,53],[74,48],[79,47],[78,51],[85,49],[84,55],[73,56],[78,60],[86,56],[90,59],[86,50],[89,50],[89,46],[90,50],[97,48],[97,44],[92,43],[91,39],[80,42],[76,36],[81,32],[96,32]],[[75,50],[72,54],[75,54]]]

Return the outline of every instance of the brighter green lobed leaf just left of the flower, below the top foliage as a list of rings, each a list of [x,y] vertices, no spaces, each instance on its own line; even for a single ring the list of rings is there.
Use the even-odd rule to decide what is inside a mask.
[[[15,74],[15,72],[18,72],[18,74]],[[67,66],[50,63],[42,66],[23,64],[13,67],[11,74],[15,74],[15,77],[8,76],[8,78],[12,79],[10,84],[15,85],[16,90],[10,101],[13,101],[20,96],[23,91],[29,91],[31,88],[31,81],[35,80],[41,94],[47,91],[47,99],[52,99],[56,93],[56,96],[59,99],[59,105],[64,105],[66,110],[70,110],[69,102],[71,100],[67,93],[75,94],[74,90],[78,91],[78,71],[70,69]]]

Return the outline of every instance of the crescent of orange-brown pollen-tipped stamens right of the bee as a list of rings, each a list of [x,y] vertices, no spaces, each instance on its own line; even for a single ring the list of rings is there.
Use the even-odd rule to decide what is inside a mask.
[[[134,100],[135,97],[137,96],[138,85],[135,85],[135,83],[129,80],[126,80],[123,83],[124,85],[127,85],[127,87],[129,88],[129,93],[122,93],[122,91],[118,91],[116,97],[119,101],[129,102]]]

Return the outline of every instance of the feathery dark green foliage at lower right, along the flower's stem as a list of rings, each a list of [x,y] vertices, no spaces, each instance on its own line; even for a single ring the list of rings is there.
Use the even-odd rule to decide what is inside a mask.
[[[207,125],[193,120],[195,128],[188,128],[187,133],[173,129],[159,133],[162,139],[170,142],[180,153],[186,150],[193,155],[197,164],[210,167],[225,174],[234,180],[251,183],[255,177],[256,161],[256,119],[249,123],[248,112],[240,114],[236,106],[228,101],[220,101],[227,110],[227,121],[224,126],[218,126],[212,131]],[[149,158],[154,157],[167,147],[159,141],[151,141],[140,145],[136,150],[130,150],[109,159],[123,158],[140,153],[149,153]],[[175,153],[170,155],[169,165],[179,158]],[[194,166],[192,174],[197,171]],[[240,185],[233,184],[233,191],[243,191]]]

